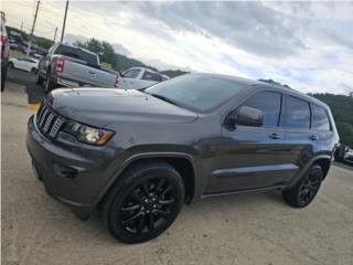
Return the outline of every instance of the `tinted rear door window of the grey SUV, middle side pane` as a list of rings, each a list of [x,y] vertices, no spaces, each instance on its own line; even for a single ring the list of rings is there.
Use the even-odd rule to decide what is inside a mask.
[[[310,107],[309,103],[288,96],[284,127],[309,129]]]

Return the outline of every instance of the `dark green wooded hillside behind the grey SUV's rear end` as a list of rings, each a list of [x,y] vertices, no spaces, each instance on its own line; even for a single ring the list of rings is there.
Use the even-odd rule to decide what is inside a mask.
[[[333,94],[310,94],[331,108],[341,142],[353,148],[353,97]]]

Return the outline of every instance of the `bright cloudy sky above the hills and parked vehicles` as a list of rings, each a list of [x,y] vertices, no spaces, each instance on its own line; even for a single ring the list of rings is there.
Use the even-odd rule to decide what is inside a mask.
[[[42,0],[34,34],[60,39],[65,0]],[[1,0],[29,32],[34,0]],[[69,1],[65,42],[105,40],[159,70],[271,78],[303,93],[353,92],[353,2]]]

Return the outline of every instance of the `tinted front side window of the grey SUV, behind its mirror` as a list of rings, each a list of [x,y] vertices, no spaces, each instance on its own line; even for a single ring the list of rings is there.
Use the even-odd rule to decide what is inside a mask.
[[[280,114],[281,95],[276,92],[260,92],[245,102],[243,106],[264,112],[264,126],[277,126]]]

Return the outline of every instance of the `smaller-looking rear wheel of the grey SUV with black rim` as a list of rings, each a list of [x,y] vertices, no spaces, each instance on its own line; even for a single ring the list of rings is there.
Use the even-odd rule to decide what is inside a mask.
[[[284,190],[285,201],[295,208],[309,205],[318,194],[322,179],[322,168],[319,165],[313,165],[293,188]]]

